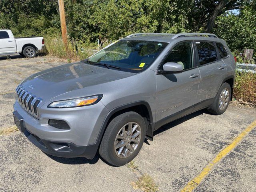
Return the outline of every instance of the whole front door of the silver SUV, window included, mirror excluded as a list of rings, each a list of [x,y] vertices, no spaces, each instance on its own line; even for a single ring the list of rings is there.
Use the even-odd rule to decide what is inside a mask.
[[[176,62],[183,67],[181,73],[156,75],[156,122],[167,120],[176,114],[192,112],[200,82],[200,72],[195,66],[194,44],[180,42],[168,53],[164,62]],[[160,70],[162,66],[160,66]]]

